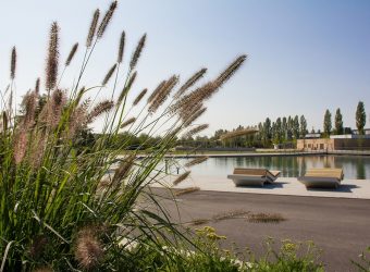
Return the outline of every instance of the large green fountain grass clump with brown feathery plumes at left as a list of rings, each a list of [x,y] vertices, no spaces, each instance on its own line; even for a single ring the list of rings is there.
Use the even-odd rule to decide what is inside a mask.
[[[177,75],[170,76],[147,100],[147,91],[136,92],[134,87],[147,36],[143,35],[124,65],[123,32],[115,63],[100,84],[85,87],[85,72],[116,7],[113,1],[102,16],[95,11],[79,72],[67,84],[72,87],[62,86],[63,75],[74,65],[79,47],[74,44],[59,73],[57,22],[50,28],[44,88],[37,79],[21,104],[15,102],[17,54],[12,49],[10,84],[0,90],[1,272],[127,271],[133,260],[140,260],[143,270],[148,270],[151,263],[143,250],[133,251],[124,240],[158,254],[178,242],[193,244],[146,188],[163,176],[159,165],[164,154],[178,135],[195,133],[198,126],[193,122],[205,112],[206,101],[246,55],[202,86],[196,82],[203,73],[185,87],[177,86]],[[193,85],[194,90],[188,90]],[[172,96],[176,88],[181,94]],[[94,135],[97,120],[102,128]],[[131,137],[143,133],[144,138],[157,140],[132,146]],[[139,150],[147,156],[137,159]]]

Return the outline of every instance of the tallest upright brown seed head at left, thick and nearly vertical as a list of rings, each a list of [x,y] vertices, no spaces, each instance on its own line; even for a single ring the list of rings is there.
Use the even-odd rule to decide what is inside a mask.
[[[57,22],[51,24],[47,67],[46,67],[46,88],[50,91],[57,84],[59,60],[59,26]]]

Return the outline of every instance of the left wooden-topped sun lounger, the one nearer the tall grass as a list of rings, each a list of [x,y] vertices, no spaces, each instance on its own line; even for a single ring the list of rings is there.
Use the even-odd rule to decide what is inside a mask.
[[[264,183],[273,183],[279,175],[280,171],[236,168],[227,178],[233,180],[235,186],[263,186]]]

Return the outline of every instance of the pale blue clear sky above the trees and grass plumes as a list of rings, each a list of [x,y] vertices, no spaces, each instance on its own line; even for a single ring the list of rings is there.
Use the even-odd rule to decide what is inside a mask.
[[[61,26],[61,61],[75,41],[85,44],[96,8],[110,1],[12,0],[0,4],[0,87],[9,83],[9,57],[17,48],[16,89],[22,95],[44,76],[50,23]],[[199,121],[217,128],[255,125],[270,118],[304,114],[322,129],[323,114],[341,108],[355,126],[362,100],[370,126],[370,1],[152,0],[119,1],[112,24],[94,57],[86,83],[101,82],[116,58],[121,30],[126,57],[139,37],[148,42],[138,67],[137,91],[173,73],[186,79],[207,66],[215,76],[237,54],[248,61],[209,102]],[[78,59],[82,58],[82,50]],[[75,60],[76,61],[76,60]],[[75,62],[77,63],[77,61]],[[67,71],[70,81],[77,65]]]

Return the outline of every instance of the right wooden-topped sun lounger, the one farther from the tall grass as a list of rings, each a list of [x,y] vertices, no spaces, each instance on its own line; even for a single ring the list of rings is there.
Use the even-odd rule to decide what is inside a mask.
[[[342,169],[309,169],[298,181],[305,184],[306,188],[337,188],[343,177]]]

